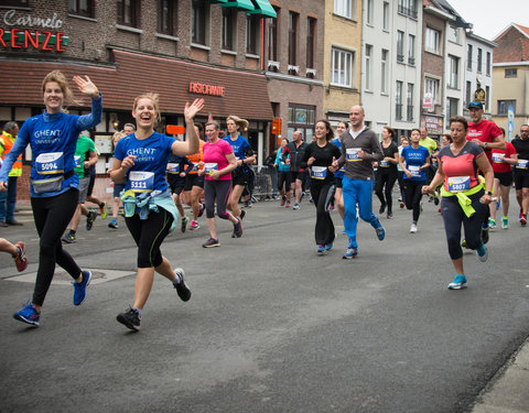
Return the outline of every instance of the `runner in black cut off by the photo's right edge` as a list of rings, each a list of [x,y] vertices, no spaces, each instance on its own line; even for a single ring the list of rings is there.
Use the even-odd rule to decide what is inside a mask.
[[[520,207],[520,224],[525,227],[529,209],[529,124],[521,126],[520,138],[512,140],[512,146],[518,152],[518,162],[515,166],[516,200]]]

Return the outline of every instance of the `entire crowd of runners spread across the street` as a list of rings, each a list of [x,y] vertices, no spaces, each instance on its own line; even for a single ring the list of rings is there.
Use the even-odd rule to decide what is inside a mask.
[[[41,239],[39,267],[32,298],[14,313],[17,320],[33,326],[40,325],[56,264],[73,279],[73,304],[85,301],[91,273],[77,265],[63,242],[76,241],[82,215],[87,217],[87,230],[94,225],[97,215],[86,207],[87,200],[98,206],[101,218],[108,214],[107,205],[93,194],[98,153],[94,142],[82,134],[101,121],[102,97],[88,77],[75,76],[73,81],[91,99],[91,112],[66,113],[65,106],[76,100],[68,80],[54,70],[42,81],[45,111],[23,123],[9,153],[2,155],[0,191],[6,192],[18,156],[28,144],[33,153],[31,206]],[[133,305],[119,313],[117,320],[133,330],[140,328],[155,272],[172,283],[182,301],[191,298],[184,270],[173,269],[161,252],[164,238],[176,226],[181,231],[197,230],[205,213],[209,233],[204,248],[220,246],[215,216],[233,225],[233,238],[244,235],[246,210],[239,204],[251,196],[251,165],[256,164],[256,154],[242,137],[248,121],[229,116],[223,137],[216,120],[204,127],[194,123],[203,108],[203,99],[185,105],[185,140],[180,141],[156,132],[161,116],[158,95],[144,94],[132,102],[136,124],[127,123],[112,137],[115,153],[107,172],[114,182],[114,196],[108,227],[119,228],[122,203],[125,224],[138,246]],[[464,117],[450,119],[450,134],[443,135],[440,144],[424,128],[397,138],[396,131],[386,127],[380,141],[365,126],[360,106],[354,106],[350,122],[339,122],[335,131],[327,120],[316,121],[312,142],[304,142],[301,131],[294,131],[292,141],[283,139],[272,157],[279,206],[300,209],[310,188],[316,213],[315,252],[321,256],[335,247],[332,210],[336,208],[334,219],[343,220],[347,236],[342,257],[350,260],[359,254],[358,218],[371,225],[380,241],[385,239],[382,219],[385,214],[386,219],[393,217],[392,194],[398,181],[400,208],[411,211],[410,233],[419,230],[424,195],[440,205],[455,272],[449,289],[464,289],[463,248],[475,250],[481,261],[487,260],[488,231],[497,228],[498,210],[501,228],[509,228],[512,183],[521,226],[527,225],[529,208],[529,126],[521,127],[519,138],[506,142],[505,131],[483,119],[481,102],[471,102],[468,111],[471,122]],[[378,215],[373,211],[374,193],[380,200]],[[184,206],[191,209],[191,217]],[[0,239],[0,250],[13,257],[19,271],[26,268],[23,242]]]

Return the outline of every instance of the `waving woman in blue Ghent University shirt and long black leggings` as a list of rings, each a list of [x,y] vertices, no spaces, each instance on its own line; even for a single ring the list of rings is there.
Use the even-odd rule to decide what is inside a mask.
[[[41,238],[39,269],[33,298],[13,316],[33,326],[40,325],[41,309],[52,283],[55,263],[74,279],[74,305],[85,301],[86,286],[91,278],[89,271],[82,271],[69,253],[63,250],[61,236],[79,199],[79,181],[74,173],[77,137],[80,131],[94,128],[101,121],[102,99],[88,76],[74,76],[73,80],[83,95],[91,97],[91,113],[65,113],[64,104],[79,104],[74,99],[66,77],[60,70],[48,73],[42,81],[46,109],[24,122],[0,171],[0,191],[6,191],[8,173],[14,160],[28,144],[31,145],[31,206]]]

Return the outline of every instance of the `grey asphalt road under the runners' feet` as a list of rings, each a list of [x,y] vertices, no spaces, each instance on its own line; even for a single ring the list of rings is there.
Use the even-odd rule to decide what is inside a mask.
[[[28,243],[24,273],[34,273],[37,237],[31,215],[19,218],[25,226],[0,237]],[[382,242],[361,222],[350,261],[341,259],[346,237],[333,218],[338,236],[325,257],[307,202],[299,211],[255,204],[240,239],[218,222],[220,248],[201,247],[205,221],[176,230],[162,250],[185,269],[193,296],[182,303],[158,278],[140,333],[116,322],[133,302],[136,248],[125,225],[114,231],[98,218],[66,246],[94,283],[74,307],[57,269],[36,329],[12,318],[32,276],[15,281],[1,254],[0,412],[469,411],[529,332],[529,229],[514,205],[511,227],[492,233],[488,262],[465,253],[465,291],[446,289],[453,269],[433,204],[424,203],[417,235],[407,210],[382,219]]]

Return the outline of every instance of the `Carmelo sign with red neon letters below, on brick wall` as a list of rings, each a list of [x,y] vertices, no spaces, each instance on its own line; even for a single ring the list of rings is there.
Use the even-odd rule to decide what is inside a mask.
[[[17,10],[8,10],[2,17],[0,47],[17,50],[39,50],[65,52],[68,37],[61,32],[63,21],[53,13],[51,18],[17,15]],[[31,28],[31,29],[24,29]]]

